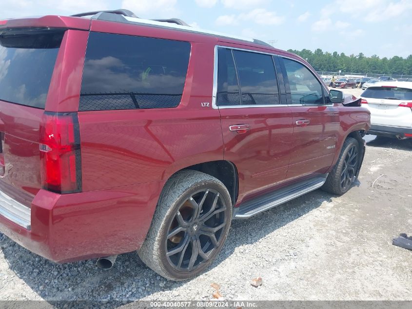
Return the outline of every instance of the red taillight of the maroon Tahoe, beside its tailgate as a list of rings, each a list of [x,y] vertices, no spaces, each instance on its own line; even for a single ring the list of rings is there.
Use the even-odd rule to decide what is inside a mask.
[[[41,182],[56,193],[81,191],[77,113],[45,112],[40,124]]]

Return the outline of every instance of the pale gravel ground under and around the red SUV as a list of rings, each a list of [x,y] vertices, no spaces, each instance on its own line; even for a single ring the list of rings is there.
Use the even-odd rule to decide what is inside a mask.
[[[412,251],[392,246],[412,234],[412,140],[365,138],[348,193],[316,190],[234,221],[212,267],[190,281],[163,279],[135,253],[110,270],[56,265],[0,233],[0,300],[210,300],[212,283],[227,300],[412,300]]]

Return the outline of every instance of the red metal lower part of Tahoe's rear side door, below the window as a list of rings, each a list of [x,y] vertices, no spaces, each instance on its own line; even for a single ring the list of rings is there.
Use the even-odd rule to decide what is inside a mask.
[[[292,150],[292,111],[289,107],[220,109],[225,160],[235,164],[239,177],[238,203],[285,180]],[[249,124],[244,134],[230,125]]]

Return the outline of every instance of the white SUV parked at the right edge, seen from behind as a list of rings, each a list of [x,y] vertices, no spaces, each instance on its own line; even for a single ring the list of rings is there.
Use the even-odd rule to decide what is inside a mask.
[[[370,134],[412,138],[412,82],[379,82],[362,94],[371,112]]]

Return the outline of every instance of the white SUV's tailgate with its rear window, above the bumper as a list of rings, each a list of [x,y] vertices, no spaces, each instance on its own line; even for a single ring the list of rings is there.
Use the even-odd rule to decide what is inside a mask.
[[[412,126],[412,89],[372,86],[362,93],[362,99],[363,106],[371,111],[372,124]]]

